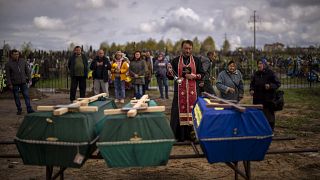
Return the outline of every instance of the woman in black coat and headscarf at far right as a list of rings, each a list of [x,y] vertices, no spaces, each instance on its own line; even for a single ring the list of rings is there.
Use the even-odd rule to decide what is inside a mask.
[[[281,82],[269,69],[265,59],[257,62],[258,70],[253,74],[250,83],[250,95],[253,96],[253,104],[262,104],[263,113],[266,116],[272,131],[275,127],[275,113],[272,100]]]

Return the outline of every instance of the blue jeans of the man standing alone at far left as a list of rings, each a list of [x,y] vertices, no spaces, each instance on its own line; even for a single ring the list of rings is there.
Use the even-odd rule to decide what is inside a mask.
[[[21,102],[20,102],[20,98],[19,98],[19,90],[21,91],[23,98],[24,98],[24,102],[26,103],[27,106],[27,112],[31,112],[32,107],[30,104],[30,98],[29,98],[29,88],[27,86],[26,83],[24,84],[18,84],[18,85],[13,85],[13,97],[14,97],[14,101],[16,103],[17,106],[17,110],[21,111]]]

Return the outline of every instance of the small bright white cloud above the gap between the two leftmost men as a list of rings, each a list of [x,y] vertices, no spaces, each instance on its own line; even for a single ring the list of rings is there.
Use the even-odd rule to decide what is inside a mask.
[[[47,16],[33,18],[33,24],[37,28],[44,30],[59,30],[65,28],[61,19],[49,18]]]

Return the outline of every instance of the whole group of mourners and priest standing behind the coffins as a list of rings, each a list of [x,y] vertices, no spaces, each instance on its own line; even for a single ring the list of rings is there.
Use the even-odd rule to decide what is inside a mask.
[[[139,99],[149,90],[151,77],[157,79],[159,98],[169,99],[168,80],[174,81],[170,125],[178,141],[192,140],[191,132],[193,105],[201,92],[220,95],[223,99],[239,103],[244,95],[244,82],[237,64],[230,61],[226,68],[216,77],[212,74],[215,64],[215,52],[208,52],[207,56],[194,56],[192,54],[193,42],[184,40],[181,43],[181,54],[172,60],[165,58],[160,52],[152,57],[150,51],[135,51],[132,59],[128,59],[121,51],[107,58],[100,49],[96,57],[88,63],[87,57],[82,53],[80,46],[74,48],[73,55],[68,60],[68,70],[71,76],[70,101],[76,99],[79,87],[80,97],[86,96],[86,80],[92,71],[94,93],[104,92],[109,96],[109,82],[114,85],[114,99],[116,103],[125,103],[126,82],[130,81],[134,88],[134,97]],[[12,50],[10,61],[6,64],[8,87],[12,89],[17,114],[22,112],[19,100],[21,91],[25,99],[27,112],[34,110],[28,96],[28,81],[30,70],[25,60],[19,58],[19,52]],[[268,68],[267,62],[257,61],[258,70],[252,75],[250,94],[253,104],[263,104],[263,112],[270,127],[274,129],[275,114],[270,101],[275,91],[281,85],[274,72]],[[216,79],[216,80],[215,80]],[[215,81],[214,81],[215,80]],[[216,87],[216,88],[214,88]],[[130,97],[132,98],[132,97]]]

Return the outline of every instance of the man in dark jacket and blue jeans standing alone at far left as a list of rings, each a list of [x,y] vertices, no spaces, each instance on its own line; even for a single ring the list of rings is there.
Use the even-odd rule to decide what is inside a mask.
[[[22,114],[19,90],[21,91],[27,106],[27,112],[33,113],[34,110],[30,104],[28,83],[31,81],[31,74],[28,64],[25,60],[19,59],[19,51],[13,49],[10,53],[11,59],[6,64],[7,85],[13,92],[14,101],[17,107],[17,115]]]

